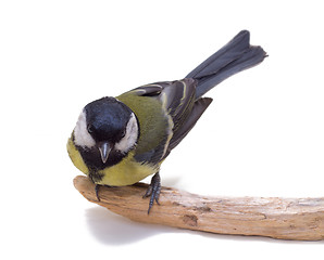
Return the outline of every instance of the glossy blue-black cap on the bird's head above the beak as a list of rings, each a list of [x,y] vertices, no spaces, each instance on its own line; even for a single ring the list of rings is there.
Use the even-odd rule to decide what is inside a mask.
[[[102,98],[85,106],[87,127],[96,142],[117,142],[125,134],[132,109],[114,98]]]

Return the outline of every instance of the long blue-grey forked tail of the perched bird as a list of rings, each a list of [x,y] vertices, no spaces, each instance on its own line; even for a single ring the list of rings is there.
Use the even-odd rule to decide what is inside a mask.
[[[258,65],[265,56],[266,53],[261,47],[250,46],[250,32],[241,30],[186,78],[198,81],[196,98],[200,98],[232,75]]]

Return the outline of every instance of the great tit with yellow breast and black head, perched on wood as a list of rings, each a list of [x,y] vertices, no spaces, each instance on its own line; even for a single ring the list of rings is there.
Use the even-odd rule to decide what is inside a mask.
[[[96,184],[124,186],[148,176],[149,209],[159,204],[160,167],[211,104],[202,95],[224,79],[261,63],[266,53],[240,31],[184,79],[146,84],[87,104],[67,142],[73,164]]]

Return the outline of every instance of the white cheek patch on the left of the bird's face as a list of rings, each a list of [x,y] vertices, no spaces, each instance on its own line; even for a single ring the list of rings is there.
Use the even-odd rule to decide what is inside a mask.
[[[76,126],[74,128],[74,143],[78,146],[89,148],[96,145],[95,140],[92,139],[87,129],[87,118],[85,110],[80,113]]]

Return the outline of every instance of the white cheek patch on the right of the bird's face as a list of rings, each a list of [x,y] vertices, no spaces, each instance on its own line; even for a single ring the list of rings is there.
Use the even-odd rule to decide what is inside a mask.
[[[115,144],[115,150],[121,151],[122,153],[127,153],[136,144],[138,138],[138,126],[134,113],[130,116],[130,119],[126,126],[125,136]]]

